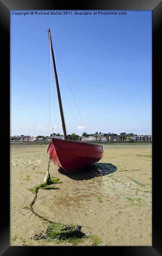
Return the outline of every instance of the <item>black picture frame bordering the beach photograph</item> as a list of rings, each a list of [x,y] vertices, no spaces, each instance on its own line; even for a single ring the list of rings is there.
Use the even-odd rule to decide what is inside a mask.
[[[161,58],[161,39],[160,39],[160,24],[162,24],[162,1],[161,0],[101,0],[101,1],[87,1],[86,3],[73,3],[70,2],[59,4],[59,2],[52,0],[1,0],[0,1],[0,26],[1,26],[1,63],[2,65],[2,73],[1,78],[4,77],[4,86],[1,88],[1,95],[5,95],[5,105],[2,104],[2,114],[1,119],[5,120],[5,133],[9,133],[9,121],[10,121],[10,109],[9,109],[9,100],[7,101],[6,95],[10,95],[10,10],[152,10],[153,17],[153,37],[152,37],[152,82],[153,82],[153,90],[152,96],[153,99],[156,95],[158,95],[158,83],[160,83],[160,58]],[[2,55],[4,56],[2,57]],[[156,85],[156,86],[155,86]],[[154,101],[153,101],[154,102]],[[9,111],[6,111],[8,106]],[[160,106],[160,104],[159,104]],[[154,103],[153,103],[154,110]],[[154,115],[152,117],[153,125],[153,140],[156,139],[154,137],[154,128],[156,127],[157,121],[154,119]],[[7,138],[6,138],[7,139]],[[9,144],[7,142],[4,143],[4,155],[9,153]],[[162,255],[162,232],[161,232],[161,214],[160,209],[158,209],[158,204],[156,198],[158,197],[158,193],[160,193],[160,179],[158,178],[158,174],[156,169],[154,169],[154,162],[158,162],[160,159],[159,154],[155,154],[156,146],[153,142],[153,245],[152,246],[129,246],[129,247],[121,247],[121,246],[110,246],[106,247],[106,253],[109,254],[112,252],[113,254],[120,253],[120,255],[124,256],[135,256],[135,255],[146,255],[146,256],[158,256]],[[157,152],[157,151],[156,151]],[[7,155],[9,156],[9,154]],[[4,161],[3,158],[1,158]],[[0,255],[33,255],[37,253],[37,250],[40,249],[42,254],[53,252],[55,253],[55,249],[53,247],[20,247],[20,246],[10,246],[10,216],[9,216],[9,201],[10,201],[10,193],[9,192],[9,159],[5,159],[5,169],[2,169],[1,178],[5,181],[5,189],[1,190],[1,225],[0,225]],[[159,192],[158,192],[159,189]],[[8,191],[8,192],[7,192]],[[159,198],[160,199],[160,198]],[[160,207],[160,206],[159,206]],[[59,249],[59,253],[69,254],[71,252],[75,252],[77,254],[81,254],[85,251],[85,247],[57,247]],[[88,249],[92,250],[94,248],[88,247]],[[104,249],[104,247],[96,247],[95,250],[98,252],[99,250]],[[70,252],[71,250],[71,252]],[[87,250],[87,247],[86,247]],[[92,253],[92,252],[91,252]]]

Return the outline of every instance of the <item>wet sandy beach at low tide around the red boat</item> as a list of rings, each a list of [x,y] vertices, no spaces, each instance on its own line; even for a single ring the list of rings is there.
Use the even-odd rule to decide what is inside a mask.
[[[11,145],[10,245],[74,246],[74,243],[33,239],[47,224],[24,208],[44,182],[48,145]],[[39,189],[34,211],[51,221],[79,224],[99,246],[152,246],[152,145],[103,146],[103,158],[87,171],[67,174],[52,162],[50,174],[59,189]],[[79,246],[93,246],[91,238]]]

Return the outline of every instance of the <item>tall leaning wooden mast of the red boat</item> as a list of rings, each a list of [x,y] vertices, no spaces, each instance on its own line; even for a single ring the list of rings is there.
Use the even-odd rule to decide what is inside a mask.
[[[55,58],[54,58],[54,53],[53,53],[53,46],[52,46],[50,28],[48,28],[47,31],[48,31],[48,38],[49,38],[50,49],[51,49],[51,54],[52,54],[53,70],[54,70],[54,73],[55,73],[56,89],[57,89],[57,96],[58,96],[58,100],[59,100],[59,108],[60,108],[61,121],[62,121],[62,126],[63,126],[64,139],[67,139],[64,115],[63,115],[63,106],[62,106],[62,102],[61,102],[59,82],[58,82],[58,78],[57,78],[57,71],[56,71]]]

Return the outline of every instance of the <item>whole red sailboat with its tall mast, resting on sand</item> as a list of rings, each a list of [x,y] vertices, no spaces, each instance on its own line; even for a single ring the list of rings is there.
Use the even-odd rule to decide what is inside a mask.
[[[51,32],[49,28],[47,29],[47,31],[64,133],[64,139],[51,139],[47,153],[50,159],[53,161],[53,163],[58,167],[64,169],[66,173],[75,173],[76,171],[88,167],[92,163],[98,162],[103,157],[103,146],[96,145],[93,143],[68,140],[68,136],[66,135],[66,125],[64,120],[63,106],[61,101],[59,82],[57,78],[55,58],[52,47]]]

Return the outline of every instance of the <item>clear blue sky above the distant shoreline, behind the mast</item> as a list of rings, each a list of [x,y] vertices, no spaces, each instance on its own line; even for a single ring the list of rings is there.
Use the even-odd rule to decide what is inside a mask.
[[[152,12],[31,11],[10,12],[10,135],[63,134],[48,27],[68,134],[151,135]]]

